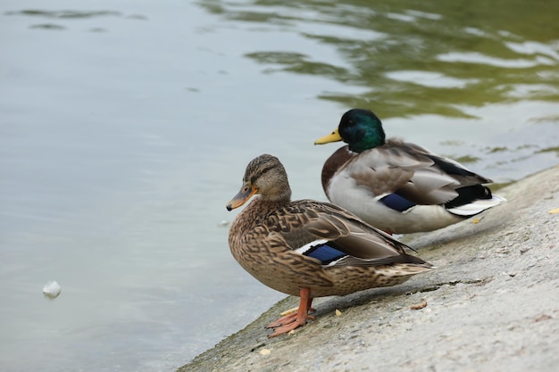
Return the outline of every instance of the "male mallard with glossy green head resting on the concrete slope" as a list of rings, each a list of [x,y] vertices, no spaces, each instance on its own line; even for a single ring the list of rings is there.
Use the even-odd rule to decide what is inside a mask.
[[[446,227],[505,201],[492,182],[419,145],[389,138],[374,112],[346,112],[314,145],[344,141],[322,168],[322,187],[338,204],[388,233]]]

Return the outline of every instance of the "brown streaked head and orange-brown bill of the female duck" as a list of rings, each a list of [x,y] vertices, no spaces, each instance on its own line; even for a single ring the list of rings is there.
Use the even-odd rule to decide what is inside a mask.
[[[243,177],[243,186],[233,199],[227,203],[231,211],[246,203],[254,194],[270,202],[288,202],[291,188],[286,169],[275,156],[264,153],[248,163]]]

